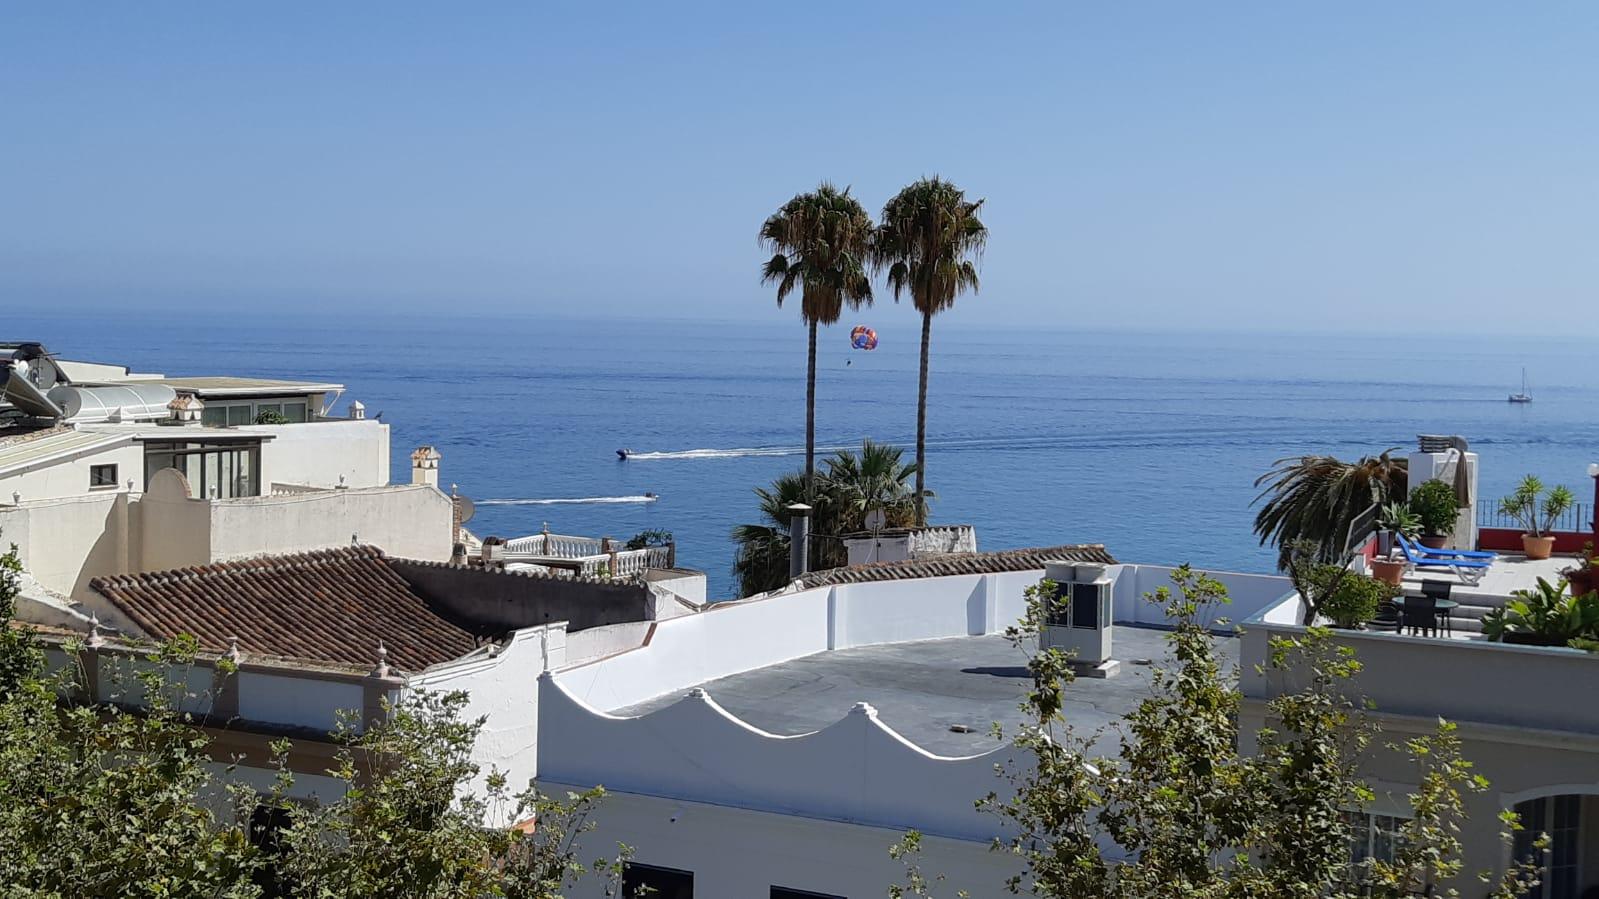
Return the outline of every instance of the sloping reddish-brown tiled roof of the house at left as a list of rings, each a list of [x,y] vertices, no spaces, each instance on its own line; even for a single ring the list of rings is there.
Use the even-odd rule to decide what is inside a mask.
[[[416,672],[473,649],[481,629],[445,616],[376,547],[221,561],[96,577],[94,590],[149,637],[190,633],[208,649],[238,648],[336,664]]]

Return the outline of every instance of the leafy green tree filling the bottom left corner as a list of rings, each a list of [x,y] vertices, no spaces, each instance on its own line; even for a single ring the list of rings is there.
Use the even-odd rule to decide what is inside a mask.
[[[169,683],[193,643],[150,653],[115,677],[120,704],[67,704],[82,672],[51,672],[34,633],[13,624],[16,547],[0,557],[0,885],[5,896],[249,897],[256,853],[213,813],[206,737]],[[67,645],[75,657],[80,645]],[[213,801],[208,801],[213,800]]]

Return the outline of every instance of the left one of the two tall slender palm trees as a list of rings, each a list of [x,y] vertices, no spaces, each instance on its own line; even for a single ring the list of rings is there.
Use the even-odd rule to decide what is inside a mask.
[[[772,251],[761,283],[777,285],[777,306],[798,286],[800,318],[811,331],[804,381],[804,483],[815,488],[815,330],[831,325],[844,306],[871,302],[871,216],[849,195],[822,182],[784,203],[764,224],[761,243]]]

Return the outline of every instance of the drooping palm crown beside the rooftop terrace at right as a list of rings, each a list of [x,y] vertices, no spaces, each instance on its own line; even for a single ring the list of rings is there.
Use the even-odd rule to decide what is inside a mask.
[[[1409,461],[1394,456],[1398,448],[1359,462],[1334,456],[1295,456],[1278,459],[1270,472],[1255,478],[1263,488],[1255,502],[1255,534],[1260,545],[1278,547],[1278,565],[1287,568],[1295,544],[1316,547],[1319,561],[1337,561],[1345,550],[1350,526],[1374,504],[1404,499],[1409,486]]]

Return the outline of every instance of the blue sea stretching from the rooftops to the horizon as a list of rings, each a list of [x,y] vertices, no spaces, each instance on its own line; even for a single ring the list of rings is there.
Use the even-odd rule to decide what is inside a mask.
[[[823,331],[817,442],[911,454],[916,323],[881,344]],[[887,320],[887,322],[884,322]],[[889,326],[884,326],[884,325]],[[317,378],[392,426],[393,478],[421,443],[477,501],[480,536],[625,539],[668,529],[681,565],[732,592],[728,531],[752,488],[803,465],[804,330],[760,323],[540,318],[200,320],[6,315],[0,338],[166,374]],[[1535,472],[1593,496],[1599,384],[1591,339],[983,330],[935,322],[927,483],[934,521],[983,549],[1103,542],[1127,561],[1268,571],[1250,533],[1255,477],[1302,453],[1409,450],[1460,434],[1482,494]],[[1532,378],[1530,405],[1505,398]],[[341,402],[341,410],[342,410]],[[617,448],[636,456],[617,461]],[[656,501],[646,493],[659,496]]]

